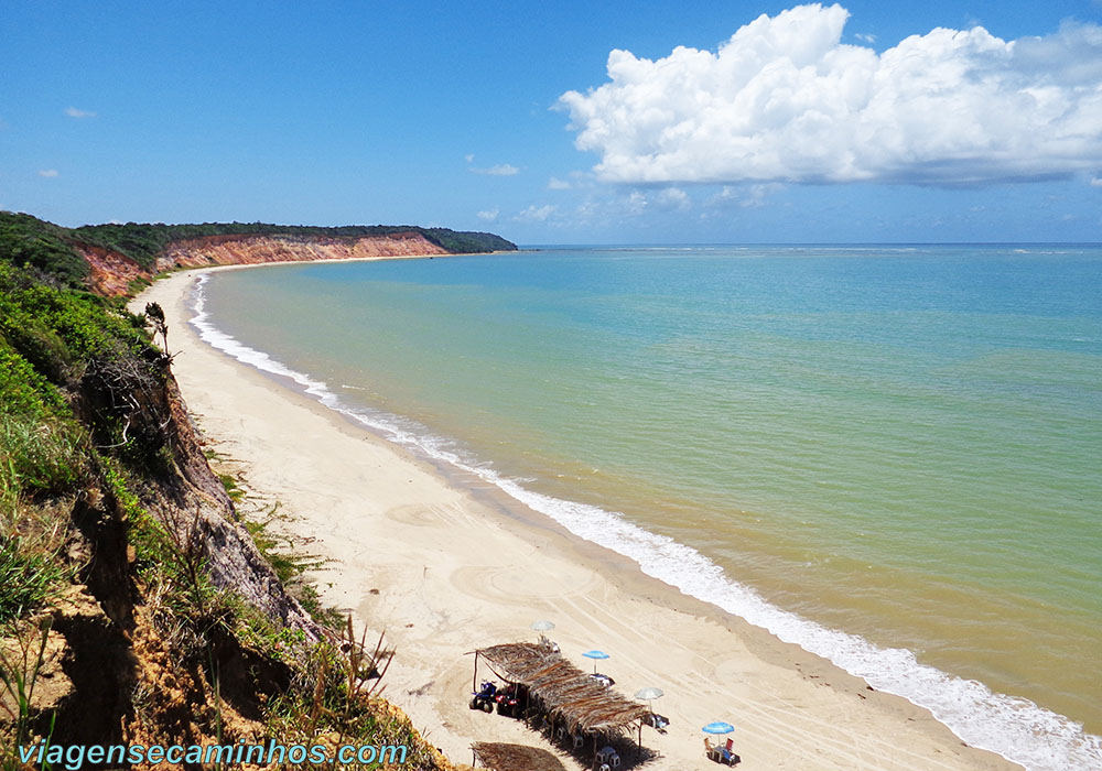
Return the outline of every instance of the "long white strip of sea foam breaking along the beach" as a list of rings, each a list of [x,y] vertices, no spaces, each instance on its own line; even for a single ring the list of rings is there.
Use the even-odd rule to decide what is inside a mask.
[[[922,664],[909,650],[879,648],[860,636],[829,629],[784,610],[732,579],[696,550],[633,524],[620,513],[534,492],[520,480],[503,477],[489,465],[466,457],[454,442],[433,435],[412,421],[345,404],[325,382],[291,369],[218,329],[206,311],[208,280],[209,275],[203,274],[195,283],[191,323],[214,348],[261,371],[287,378],[324,406],[391,442],[496,486],[574,535],[629,557],[647,575],[828,659],[878,691],[930,710],[972,747],[996,752],[1028,771],[1102,771],[1102,737],[1087,734],[1079,723],[1029,699],[995,693],[975,680]]]

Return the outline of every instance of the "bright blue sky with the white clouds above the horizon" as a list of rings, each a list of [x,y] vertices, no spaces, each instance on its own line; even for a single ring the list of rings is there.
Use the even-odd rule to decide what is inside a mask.
[[[1102,0],[4,0],[0,208],[1096,242]]]

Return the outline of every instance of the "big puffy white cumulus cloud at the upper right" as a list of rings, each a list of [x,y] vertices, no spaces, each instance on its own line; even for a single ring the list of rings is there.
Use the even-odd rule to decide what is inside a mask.
[[[849,15],[761,15],[714,53],[613,51],[611,82],[559,106],[606,182],[980,185],[1102,164],[1102,28],[939,28],[877,54],[841,43]]]

